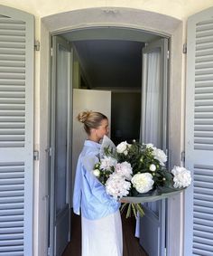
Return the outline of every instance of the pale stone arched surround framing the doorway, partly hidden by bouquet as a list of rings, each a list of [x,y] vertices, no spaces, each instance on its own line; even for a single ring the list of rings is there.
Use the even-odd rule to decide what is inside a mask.
[[[133,19],[134,17],[134,19]],[[184,147],[183,110],[184,102],[184,56],[182,44],[184,34],[181,20],[168,15],[157,14],[139,9],[102,7],[69,11],[43,17],[41,21],[41,76],[40,76],[40,155],[39,163],[39,201],[37,213],[40,220],[38,227],[38,255],[48,252],[48,148],[50,147],[50,81],[51,81],[51,35],[66,31],[103,26],[115,26],[141,32],[156,33],[171,38],[171,61],[169,65],[169,147],[170,164],[181,165],[181,151]],[[44,176],[43,176],[44,175]],[[45,178],[44,178],[45,177]],[[182,255],[183,237],[183,195],[176,195],[168,200],[167,255]]]

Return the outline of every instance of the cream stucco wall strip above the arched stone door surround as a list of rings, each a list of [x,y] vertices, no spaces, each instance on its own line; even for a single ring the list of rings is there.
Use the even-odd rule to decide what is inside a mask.
[[[212,0],[1,0],[0,3],[19,8],[36,17],[82,8],[114,6],[143,9],[181,20],[213,5]]]

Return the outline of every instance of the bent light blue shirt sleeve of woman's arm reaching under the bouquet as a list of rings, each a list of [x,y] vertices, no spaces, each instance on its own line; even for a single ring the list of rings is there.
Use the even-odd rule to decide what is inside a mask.
[[[87,180],[90,194],[96,197],[101,204],[107,204],[111,206],[118,206],[120,203],[116,201],[111,195],[106,194],[106,187],[102,185],[92,171],[94,166],[97,164],[97,156],[87,156],[82,159],[84,168],[84,176]]]

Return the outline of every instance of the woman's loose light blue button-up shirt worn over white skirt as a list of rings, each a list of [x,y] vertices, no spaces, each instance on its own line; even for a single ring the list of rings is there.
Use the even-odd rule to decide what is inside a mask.
[[[90,220],[97,220],[116,213],[120,203],[106,194],[106,188],[95,175],[93,169],[99,161],[100,144],[86,140],[79,155],[73,194],[73,211]]]

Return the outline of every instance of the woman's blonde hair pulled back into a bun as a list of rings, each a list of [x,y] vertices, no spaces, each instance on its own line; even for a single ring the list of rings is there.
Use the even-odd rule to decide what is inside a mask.
[[[79,113],[77,119],[84,124],[84,129],[87,134],[90,134],[92,128],[98,128],[101,125],[101,121],[107,119],[107,117],[95,111],[82,111]]]

